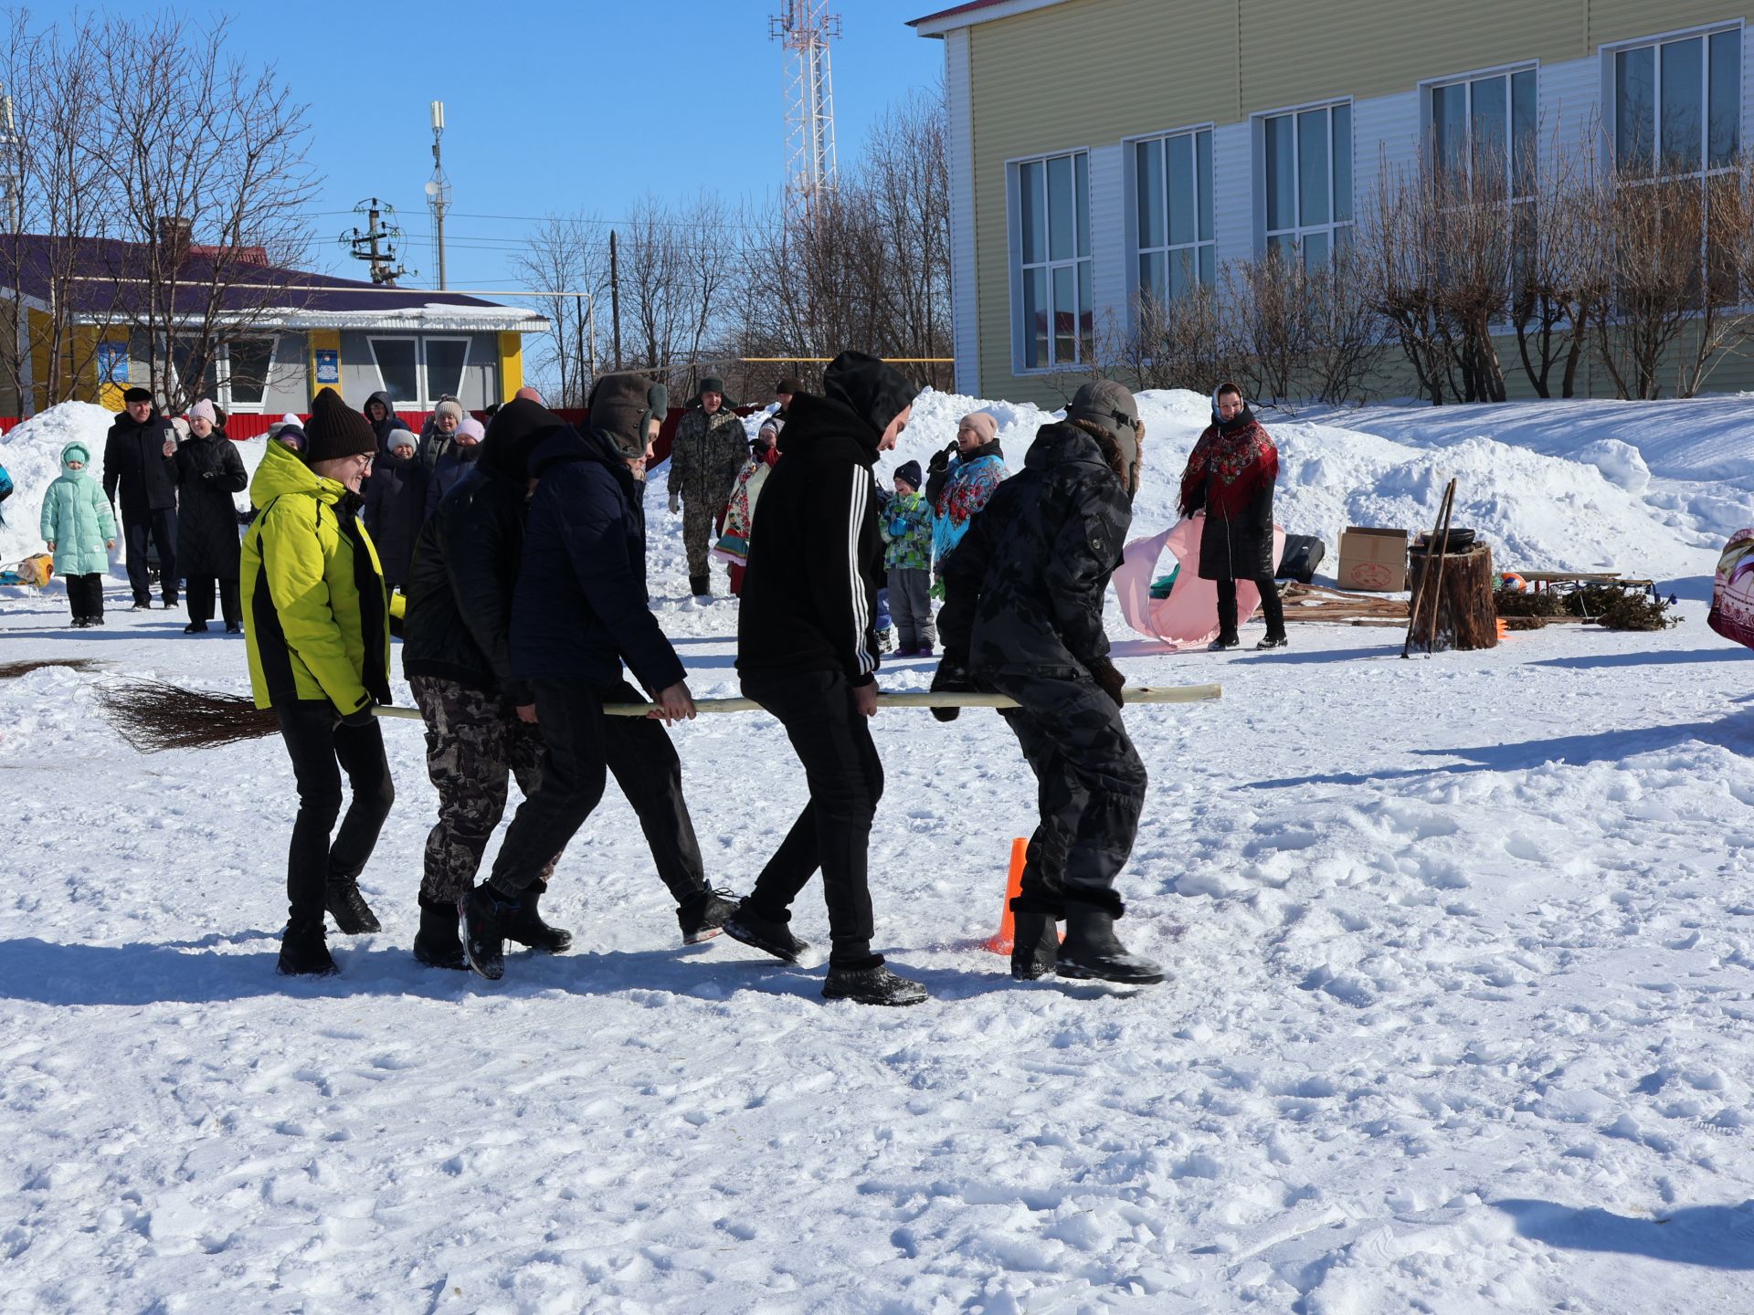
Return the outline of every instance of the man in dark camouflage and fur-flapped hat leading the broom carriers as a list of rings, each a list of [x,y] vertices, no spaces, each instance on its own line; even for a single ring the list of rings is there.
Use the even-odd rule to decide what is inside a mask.
[[[1102,605],[1133,521],[1144,426],[1109,380],[1079,389],[1035,435],[1021,475],[998,486],[945,561],[944,665],[933,689],[988,689],[1035,770],[1042,822],[1012,901],[1012,977],[1161,982],[1114,935],[1114,880],[1133,852],[1145,764],[1121,721]],[[954,715],[935,708],[940,721]],[[1059,943],[1058,919],[1066,919]]]

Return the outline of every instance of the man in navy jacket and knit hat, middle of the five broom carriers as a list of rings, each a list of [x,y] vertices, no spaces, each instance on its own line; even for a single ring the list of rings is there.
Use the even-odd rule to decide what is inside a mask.
[[[468,963],[488,978],[505,971],[507,928],[523,917],[528,892],[603,798],[614,735],[603,724],[603,691],[626,687],[623,661],[654,691],[654,717],[695,715],[688,673],[645,593],[645,526],[628,465],[649,452],[661,396],[649,400],[656,389],[640,380],[640,405],[628,405],[631,386],[605,394],[609,379],[593,391],[593,426],[581,435],[554,417],[526,463],[537,487],[512,594],[510,670],[531,689],[545,756],[493,873],[461,901]],[[521,405],[537,403],[507,403],[496,424]]]

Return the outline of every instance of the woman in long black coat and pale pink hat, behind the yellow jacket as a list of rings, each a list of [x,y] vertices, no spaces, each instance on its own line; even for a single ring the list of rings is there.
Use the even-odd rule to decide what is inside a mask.
[[[214,403],[189,407],[189,437],[177,444],[177,566],[186,582],[189,624],[184,635],[202,635],[214,614],[214,586],[228,635],[244,629],[237,593],[237,503],[233,493],[249,484],[237,447],[217,428]]]

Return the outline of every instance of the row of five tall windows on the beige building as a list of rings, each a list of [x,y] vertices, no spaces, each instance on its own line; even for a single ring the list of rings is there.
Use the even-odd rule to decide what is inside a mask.
[[[1621,175],[1691,177],[1742,149],[1742,28],[1612,53],[1612,146]],[[1426,84],[1421,116],[1440,175],[1528,198],[1538,168],[1535,68]],[[1256,233],[1265,251],[1314,268],[1352,240],[1352,105],[1256,119]],[[1212,130],[1135,140],[1130,245],[1138,295],[1175,298],[1217,277]],[[1077,365],[1094,340],[1089,156],[1072,151],[1014,172],[1017,356],[1024,370]]]

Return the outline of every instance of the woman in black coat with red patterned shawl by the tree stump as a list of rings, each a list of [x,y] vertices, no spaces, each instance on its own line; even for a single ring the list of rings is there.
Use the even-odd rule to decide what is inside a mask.
[[[1256,649],[1286,647],[1286,610],[1273,584],[1273,482],[1279,449],[1235,384],[1212,394],[1212,424],[1182,472],[1182,515],[1205,512],[1200,530],[1200,579],[1217,580],[1217,638],[1209,647],[1235,649],[1237,580],[1261,593],[1266,638]]]

